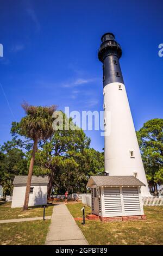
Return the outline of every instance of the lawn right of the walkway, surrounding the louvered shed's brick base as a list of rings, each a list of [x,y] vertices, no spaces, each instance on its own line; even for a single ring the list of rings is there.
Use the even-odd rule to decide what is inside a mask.
[[[73,217],[82,217],[82,203],[67,204]],[[77,221],[90,245],[163,245],[163,207],[145,207],[146,221]],[[86,214],[91,212],[86,207]]]

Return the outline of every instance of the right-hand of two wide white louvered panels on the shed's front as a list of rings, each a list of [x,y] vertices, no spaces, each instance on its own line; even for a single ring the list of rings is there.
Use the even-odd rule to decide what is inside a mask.
[[[137,187],[123,187],[124,212],[140,212],[140,200]]]

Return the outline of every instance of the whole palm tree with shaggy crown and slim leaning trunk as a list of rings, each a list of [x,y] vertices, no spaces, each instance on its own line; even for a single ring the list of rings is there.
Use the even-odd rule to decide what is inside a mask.
[[[24,198],[23,210],[28,209],[29,191],[32,180],[33,166],[37,143],[41,139],[48,139],[52,136],[54,130],[52,127],[52,114],[56,110],[56,106],[50,107],[31,106],[28,103],[23,103],[22,107],[26,112],[26,117],[22,118],[19,124],[20,135],[33,139],[32,157],[30,160],[28,180],[26,187],[26,195]]]

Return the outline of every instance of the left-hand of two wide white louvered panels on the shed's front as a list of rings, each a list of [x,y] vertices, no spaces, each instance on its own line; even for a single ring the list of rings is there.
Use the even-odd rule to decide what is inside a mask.
[[[122,214],[120,188],[105,187],[104,188],[105,214]]]

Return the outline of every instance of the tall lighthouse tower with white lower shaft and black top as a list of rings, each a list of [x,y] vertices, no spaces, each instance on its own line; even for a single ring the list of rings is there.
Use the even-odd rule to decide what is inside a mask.
[[[134,175],[146,185],[141,187],[142,196],[151,196],[119,63],[121,46],[112,33],[101,40],[98,58],[103,63],[105,172],[109,176]]]

